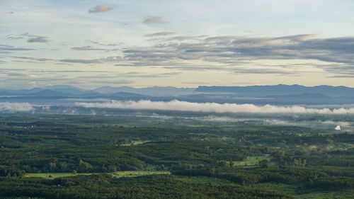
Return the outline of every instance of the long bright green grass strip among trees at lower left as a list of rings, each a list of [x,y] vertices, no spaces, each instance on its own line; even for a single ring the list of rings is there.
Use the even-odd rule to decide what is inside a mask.
[[[74,174],[74,173],[43,173],[43,174],[25,174],[26,178],[30,177],[39,177],[46,179],[60,178],[66,176],[76,176],[76,175],[91,175],[98,173],[88,173],[88,174]],[[122,178],[122,177],[136,177],[136,176],[146,176],[152,174],[170,174],[170,171],[117,171],[113,173],[108,173],[114,177]]]

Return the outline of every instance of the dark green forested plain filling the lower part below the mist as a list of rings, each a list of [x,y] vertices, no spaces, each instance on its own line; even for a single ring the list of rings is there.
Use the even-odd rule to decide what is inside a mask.
[[[0,198],[354,198],[353,134],[179,122],[0,115]]]

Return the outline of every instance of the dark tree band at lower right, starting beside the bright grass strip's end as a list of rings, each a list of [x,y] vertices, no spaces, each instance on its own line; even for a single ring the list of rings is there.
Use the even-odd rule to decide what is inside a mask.
[[[182,176],[208,176],[226,179],[240,185],[249,186],[257,183],[285,183],[302,185],[302,189],[317,188],[324,191],[352,191],[354,178],[329,176],[321,171],[299,168],[253,168],[240,169],[227,166],[173,166],[171,174]]]

